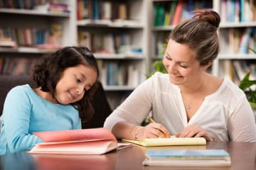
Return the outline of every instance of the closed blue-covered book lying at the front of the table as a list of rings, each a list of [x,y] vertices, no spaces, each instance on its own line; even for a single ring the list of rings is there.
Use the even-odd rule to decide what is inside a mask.
[[[144,166],[230,166],[230,154],[224,149],[147,150]]]

